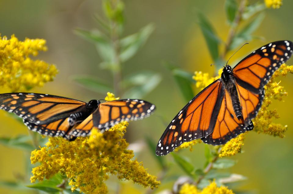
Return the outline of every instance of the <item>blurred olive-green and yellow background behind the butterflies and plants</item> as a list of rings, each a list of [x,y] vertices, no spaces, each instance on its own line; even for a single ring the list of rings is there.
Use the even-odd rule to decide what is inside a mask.
[[[133,34],[140,28],[153,23],[155,30],[146,44],[138,53],[122,66],[122,76],[139,71],[157,72],[162,81],[149,94],[143,97],[157,106],[157,111],[150,118],[131,122],[127,131],[127,140],[130,143],[140,143],[143,151],[136,156],[143,161],[145,168],[153,175],[157,175],[159,166],[155,160],[155,150],[149,151],[145,145],[145,136],[150,136],[155,142],[161,137],[165,127],[173,116],[186,104],[170,71],[164,62],[172,62],[182,69],[208,72],[214,75],[215,67],[210,67],[208,48],[197,24],[196,11],[201,10],[215,26],[217,34],[223,40],[228,33],[228,25],[224,13],[224,0],[181,0],[181,1],[143,1],[125,0],[125,30],[123,35]],[[251,1],[249,1],[251,2]],[[252,1],[254,2],[254,1]],[[254,40],[242,48],[230,60],[235,65],[241,58],[251,51],[272,41],[293,41],[292,23],[293,1],[284,0],[280,9],[266,10],[266,17],[254,35],[264,37],[263,40]],[[28,38],[44,38],[49,50],[40,53],[39,59],[53,63],[59,69],[56,79],[45,84],[42,88],[34,88],[31,92],[48,93],[64,97],[89,101],[103,99],[106,93],[96,93],[87,90],[74,81],[74,75],[90,75],[112,84],[111,74],[99,68],[101,58],[97,55],[93,44],[81,39],[73,33],[76,28],[93,29],[97,23],[94,14],[102,15],[101,1],[98,0],[43,0],[0,1],[0,33],[2,36],[15,34],[19,40]],[[229,53],[230,56],[233,53]],[[291,65],[293,60],[287,62]],[[278,122],[288,125],[286,137],[278,137],[249,132],[245,139],[242,154],[233,158],[238,163],[230,169],[231,172],[244,175],[248,179],[234,185],[237,193],[250,191],[251,193],[292,193],[293,174],[293,75],[289,74],[281,79],[281,85],[288,92],[286,102],[274,101],[273,107],[278,108],[280,119]],[[1,90],[1,92],[9,92]],[[198,93],[199,91],[195,91]],[[163,121],[162,121],[163,120]],[[4,111],[0,113],[0,136],[16,136],[27,134],[28,130],[15,119],[7,117]],[[165,123],[164,123],[165,122]],[[25,160],[27,154],[0,145],[0,181],[13,181],[23,177],[27,170]],[[188,156],[196,167],[204,164],[204,144],[199,144],[190,152],[188,149],[180,153]],[[165,156],[171,161],[170,155]],[[162,182],[159,189],[172,189],[173,175],[184,175],[178,166],[172,165],[168,171],[168,179]],[[29,177],[24,177],[27,179]],[[233,185],[232,185],[233,186]],[[114,193],[117,185],[109,183],[109,192]],[[233,189],[233,187],[231,187]],[[140,193],[145,191],[139,185],[124,182],[121,193]],[[0,188],[1,193],[24,193],[21,191]],[[33,193],[33,190],[26,190]]]

